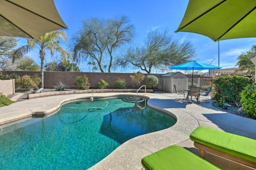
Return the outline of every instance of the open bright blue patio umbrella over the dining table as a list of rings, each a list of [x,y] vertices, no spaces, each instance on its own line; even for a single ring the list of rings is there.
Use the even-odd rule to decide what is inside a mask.
[[[201,70],[201,69],[220,69],[221,67],[200,63],[197,61],[191,61],[175,66],[168,67],[170,69],[180,69],[180,70],[192,70],[192,85],[193,85],[193,79],[194,79],[194,70]]]

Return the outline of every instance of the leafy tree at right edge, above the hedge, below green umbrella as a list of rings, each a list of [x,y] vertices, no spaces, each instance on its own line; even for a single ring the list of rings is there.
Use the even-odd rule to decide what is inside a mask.
[[[237,71],[247,70],[247,74],[254,75],[255,74],[255,66],[252,61],[248,58],[252,53],[256,52],[256,44],[252,45],[251,49],[247,52],[243,52],[240,56],[238,56],[237,66],[239,67]]]

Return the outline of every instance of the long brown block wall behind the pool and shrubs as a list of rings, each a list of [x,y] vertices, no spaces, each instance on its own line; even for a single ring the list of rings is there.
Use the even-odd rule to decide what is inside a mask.
[[[32,76],[34,74],[40,75],[40,71],[2,71],[3,74],[17,74],[20,76],[29,75]],[[100,79],[105,80],[109,83],[107,88],[115,88],[114,83],[118,77],[122,77],[126,79],[127,88],[136,88],[134,83],[131,82],[131,75],[134,73],[115,73],[115,72],[63,72],[63,71],[44,71],[44,87],[45,88],[53,88],[58,82],[65,83],[69,88],[76,88],[74,82],[77,76],[87,75],[89,78],[89,83],[91,84],[91,88],[97,88],[98,82]],[[158,78],[163,74],[145,74],[147,75],[155,75]],[[144,84],[142,82],[141,84]]]

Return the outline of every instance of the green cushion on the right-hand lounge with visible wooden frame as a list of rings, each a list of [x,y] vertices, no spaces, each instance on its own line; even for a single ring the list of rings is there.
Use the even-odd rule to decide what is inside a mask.
[[[200,126],[190,139],[207,147],[256,163],[256,140]]]

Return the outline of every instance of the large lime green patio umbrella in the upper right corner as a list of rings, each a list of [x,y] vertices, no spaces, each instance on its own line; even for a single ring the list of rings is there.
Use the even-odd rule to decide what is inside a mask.
[[[256,1],[190,0],[175,32],[202,34],[214,41],[256,37]]]

